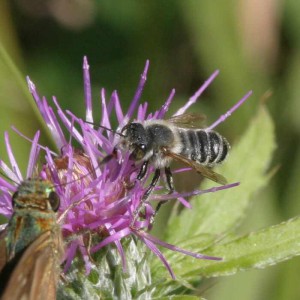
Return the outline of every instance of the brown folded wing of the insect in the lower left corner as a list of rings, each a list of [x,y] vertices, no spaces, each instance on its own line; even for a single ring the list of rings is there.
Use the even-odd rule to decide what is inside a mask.
[[[2,300],[55,300],[61,237],[46,231],[25,249],[12,270]]]

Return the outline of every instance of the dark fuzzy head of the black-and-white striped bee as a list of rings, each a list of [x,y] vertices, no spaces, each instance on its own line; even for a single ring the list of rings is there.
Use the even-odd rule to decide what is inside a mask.
[[[133,160],[141,160],[147,153],[149,146],[148,134],[141,123],[129,123],[122,129],[124,139],[121,147],[131,152],[130,157]]]

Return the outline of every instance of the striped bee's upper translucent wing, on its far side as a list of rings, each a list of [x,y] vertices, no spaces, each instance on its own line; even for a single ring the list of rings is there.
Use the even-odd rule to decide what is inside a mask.
[[[167,119],[168,122],[180,128],[203,128],[206,116],[200,113],[185,113]]]

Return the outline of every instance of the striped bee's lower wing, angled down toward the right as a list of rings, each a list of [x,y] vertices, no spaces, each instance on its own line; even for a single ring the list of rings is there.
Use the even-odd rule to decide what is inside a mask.
[[[166,148],[163,148],[163,153],[177,161],[181,161],[182,163],[186,164],[187,166],[192,167],[195,171],[200,173],[202,176],[204,176],[214,182],[220,183],[222,185],[227,184],[227,180],[224,176],[214,172],[213,170],[211,170],[209,168],[206,168],[205,166],[200,165],[199,163],[197,163],[193,160],[190,160],[180,154],[171,152]]]

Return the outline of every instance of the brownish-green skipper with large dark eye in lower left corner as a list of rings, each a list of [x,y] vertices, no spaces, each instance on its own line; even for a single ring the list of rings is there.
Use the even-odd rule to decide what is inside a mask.
[[[63,256],[56,221],[60,199],[50,181],[27,179],[12,196],[14,213],[0,241],[0,298],[56,299]]]

